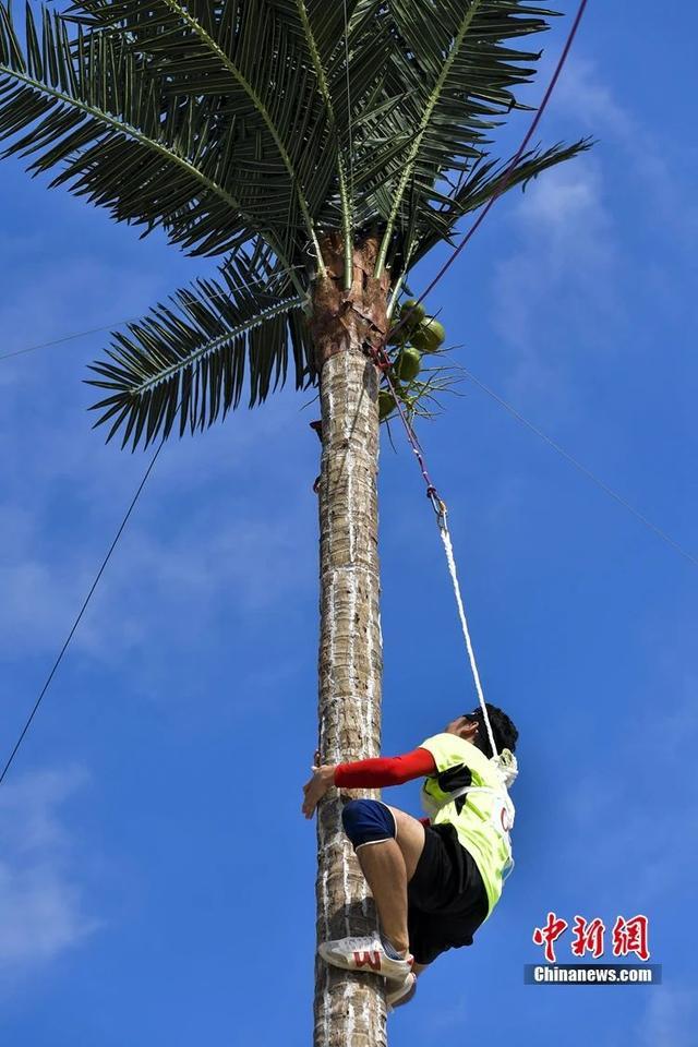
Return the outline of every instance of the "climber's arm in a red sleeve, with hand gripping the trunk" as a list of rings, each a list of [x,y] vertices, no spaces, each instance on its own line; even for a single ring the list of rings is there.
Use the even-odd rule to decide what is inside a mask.
[[[313,777],[303,786],[302,810],[306,818],[312,818],[318,802],[333,785],[339,789],[382,789],[424,778],[435,770],[434,757],[421,747],[402,756],[313,766]]]

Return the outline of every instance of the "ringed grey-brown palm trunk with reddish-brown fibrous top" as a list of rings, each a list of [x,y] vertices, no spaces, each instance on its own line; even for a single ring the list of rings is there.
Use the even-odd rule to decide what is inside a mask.
[[[320,754],[322,762],[377,756],[383,652],[377,553],[378,372],[365,349],[386,329],[388,279],[373,279],[377,241],[354,250],[342,290],[342,244],[323,244],[315,288],[321,369]],[[357,794],[353,794],[357,795]],[[376,791],[365,792],[377,796]],[[317,811],[317,941],[375,930],[373,899],[341,828],[335,791]],[[384,1047],[383,979],[315,965],[314,1047]]]

